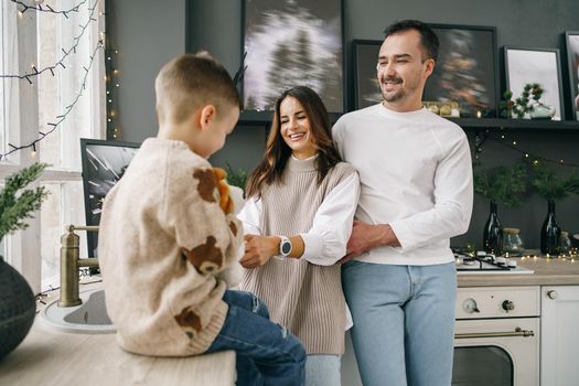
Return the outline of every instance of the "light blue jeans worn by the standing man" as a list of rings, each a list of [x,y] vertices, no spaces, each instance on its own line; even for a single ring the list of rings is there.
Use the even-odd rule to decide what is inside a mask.
[[[342,267],[342,282],[364,386],[451,384],[454,262],[394,266],[353,260]]]

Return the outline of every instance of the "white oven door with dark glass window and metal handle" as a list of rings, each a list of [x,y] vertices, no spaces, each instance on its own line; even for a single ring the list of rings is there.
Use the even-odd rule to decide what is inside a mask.
[[[454,386],[538,386],[539,319],[458,320]]]

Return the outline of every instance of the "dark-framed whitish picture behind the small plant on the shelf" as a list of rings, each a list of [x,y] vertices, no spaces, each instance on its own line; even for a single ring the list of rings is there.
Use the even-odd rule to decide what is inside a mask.
[[[561,66],[557,49],[504,47],[505,87],[517,98],[528,83],[537,83],[544,93],[540,101],[555,107],[554,120],[565,118]]]

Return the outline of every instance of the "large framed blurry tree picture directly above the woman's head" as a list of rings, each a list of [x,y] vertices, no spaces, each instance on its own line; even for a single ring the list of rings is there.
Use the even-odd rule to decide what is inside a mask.
[[[342,0],[245,0],[244,109],[271,111],[282,90],[314,89],[330,112],[343,112]]]

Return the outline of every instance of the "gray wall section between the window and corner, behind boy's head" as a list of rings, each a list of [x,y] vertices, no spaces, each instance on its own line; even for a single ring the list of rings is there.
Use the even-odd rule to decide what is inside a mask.
[[[169,60],[184,52],[182,0],[107,1],[107,22],[120,87],[118,122],[122,140],[142,142],[157,135],[154,77]]]

